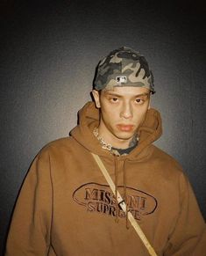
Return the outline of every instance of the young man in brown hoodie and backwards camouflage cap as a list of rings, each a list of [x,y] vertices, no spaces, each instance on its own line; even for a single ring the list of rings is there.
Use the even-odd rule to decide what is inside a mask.
[[[205,223],[188,179],[153,145],[161,135],[153,93],[152,71],[138,52],[119,48],[99,62],[95,102],[82,108],[70,137],[49,143],[28,172],[7,256],[149,255],[129,214],[158,255],[204,255]],[[116,193],[91,153],[103,161]]]

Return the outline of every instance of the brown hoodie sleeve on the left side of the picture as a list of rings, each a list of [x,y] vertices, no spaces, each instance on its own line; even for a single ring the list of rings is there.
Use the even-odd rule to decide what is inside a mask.
[[[6,256],[47,255],[50,245],[53,188],[49,155],[33,161],[12,216]]]

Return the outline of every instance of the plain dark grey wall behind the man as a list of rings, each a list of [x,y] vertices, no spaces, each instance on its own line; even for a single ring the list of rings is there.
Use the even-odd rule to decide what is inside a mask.
[[[0,254],[32,159],[68,135],[90,99],[97,62],[121,46],[139,50],[153,69],[153,107],[164,128],[156,144],[181,163],[206,217],[202,2],[11,0],[0,7]]]

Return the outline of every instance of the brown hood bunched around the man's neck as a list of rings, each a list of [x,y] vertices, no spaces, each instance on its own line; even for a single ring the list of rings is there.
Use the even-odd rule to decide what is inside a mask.
[[[103,150],[101,144],[93,135],[94,128],[99,124],[99,109],[94,102],[88,102],[78,113],[79,124],[72,131],[72,137],[87,150],[96,153],[99,156],[111,155],[110,151]],[[139,144],[131,151],[127,158],[137,158],[139,153],[145,150],[154,141],[160,138],[162,134],[160,113],[150,108],[146,113],[146,120],[139,128]]]

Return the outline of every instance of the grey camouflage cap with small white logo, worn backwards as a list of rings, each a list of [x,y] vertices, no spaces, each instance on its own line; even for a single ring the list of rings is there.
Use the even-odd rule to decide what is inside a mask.
[[[103,58],[96,67],[94,89],[116,86],[146,87],[153,93],[153,73],[146,58],[131,48],[118,48]]]

